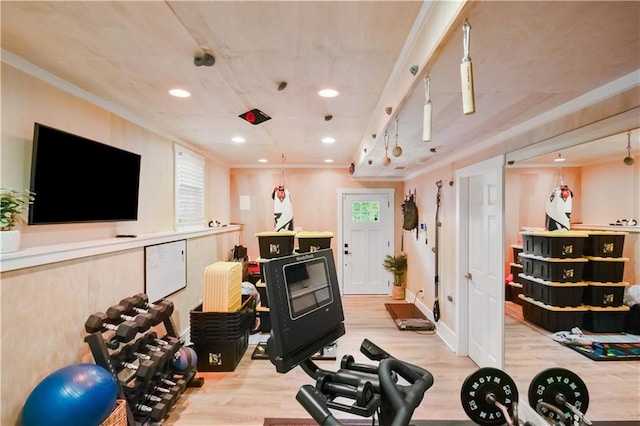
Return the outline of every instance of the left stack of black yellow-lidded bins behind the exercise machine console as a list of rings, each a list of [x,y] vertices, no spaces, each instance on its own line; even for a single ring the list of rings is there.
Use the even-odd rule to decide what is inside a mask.
[[[289,256],[293,253],[294,231],[266,231],[258,232],[258,246],[260,248],[260,281],[256,288],[260,293],[260,304],[256,307],[256,317],[260,322],[259,331],[269,333],[271,331],[271,316],[269,311],[269,299],[267,298],[267,283],[264,279],[263,267],[265,262],[278,257]]]

